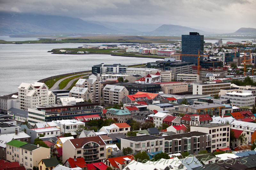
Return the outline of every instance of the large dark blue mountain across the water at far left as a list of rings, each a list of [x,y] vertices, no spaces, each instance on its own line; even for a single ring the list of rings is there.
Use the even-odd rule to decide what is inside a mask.
[[[47,33],[111,33],[116,31],[105,26],[86,22],[80,18],[0,13],[0,34],[47,34]]]

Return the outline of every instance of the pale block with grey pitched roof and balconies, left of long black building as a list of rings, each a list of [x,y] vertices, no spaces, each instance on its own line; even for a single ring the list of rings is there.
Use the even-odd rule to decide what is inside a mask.
[[[103,103],[119,104],[129,92],[124,86],[106,85],[102,90]]]

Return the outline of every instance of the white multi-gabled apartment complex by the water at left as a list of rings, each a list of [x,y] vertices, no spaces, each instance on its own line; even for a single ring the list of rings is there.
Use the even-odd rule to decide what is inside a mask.
[[[44,83],[21,83],[18,87],[20,109],[36,108],[38,105],[55,104],[55,95]]]

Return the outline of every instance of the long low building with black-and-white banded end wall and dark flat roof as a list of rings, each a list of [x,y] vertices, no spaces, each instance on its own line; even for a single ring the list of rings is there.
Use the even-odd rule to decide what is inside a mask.
[[[102,115],[102,108],[98,103],[68,101],[65,104],[42,105],[28,109],[28,122],[34,126],[36,123],[52,122],[62,119],[72,119],[74,116]]]

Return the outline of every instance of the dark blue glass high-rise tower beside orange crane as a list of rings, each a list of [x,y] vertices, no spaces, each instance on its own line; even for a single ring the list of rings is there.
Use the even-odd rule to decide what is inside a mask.
[[[200,35],[196,32],[190,32],[189,35],[182,35],[181,36],[181,54],[204,54],[204,35]],[[200,60],[203,60],[203,56],[200,57]],[[181,56],[182,62],[193,62],[193,64],[197,65],[197,57],[196,56],[189,56],[189,55],[182,55]]]

